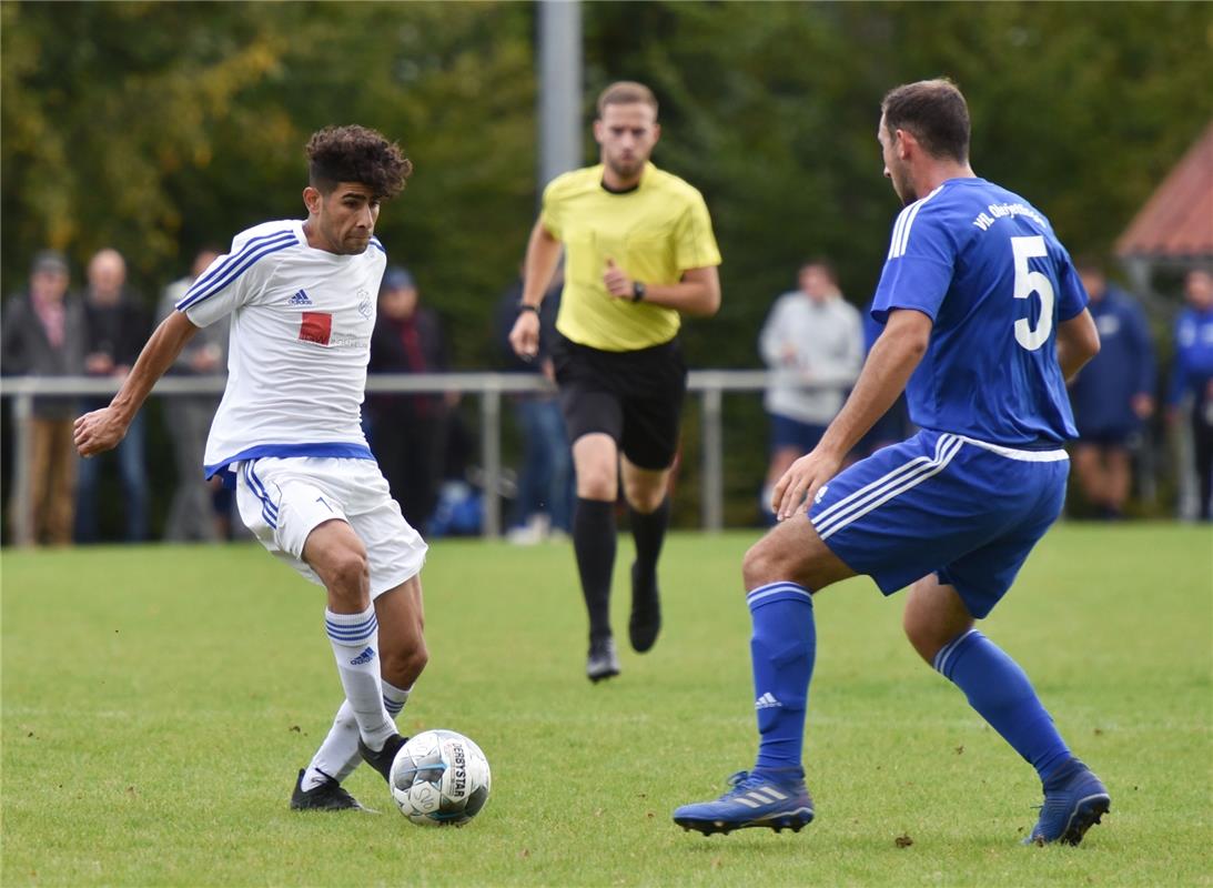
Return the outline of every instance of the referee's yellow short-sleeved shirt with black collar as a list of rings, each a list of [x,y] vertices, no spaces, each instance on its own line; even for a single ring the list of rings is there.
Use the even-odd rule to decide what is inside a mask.
[[[680,318],[672,308],[611,296],[606,260],[645,284],[676,284],[683,272],[721,264],[704,197],[647,164],[628,192],[603,188],[603,166],[558,176],[543,190],[540,223],[564,243],[564,290],[556,329],[605,352],[668,342]]]

